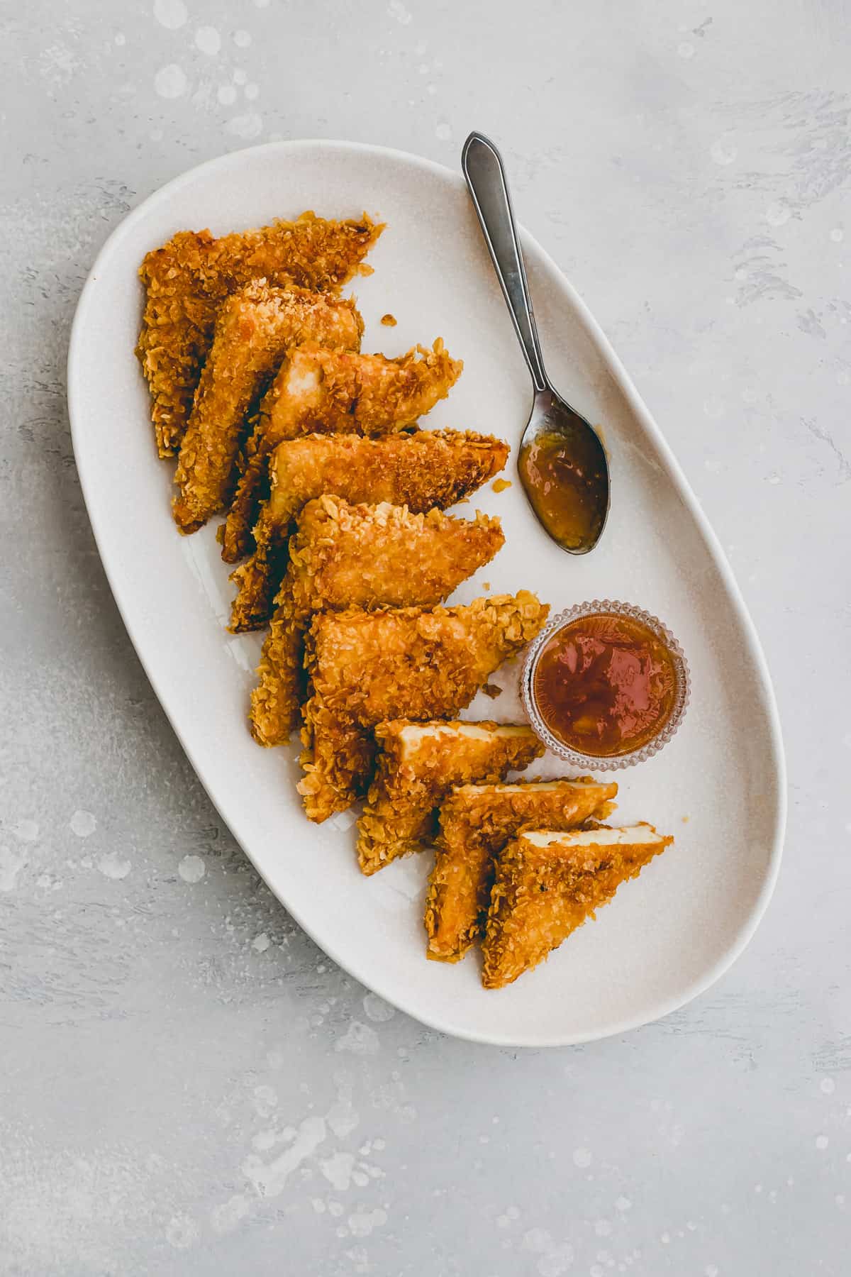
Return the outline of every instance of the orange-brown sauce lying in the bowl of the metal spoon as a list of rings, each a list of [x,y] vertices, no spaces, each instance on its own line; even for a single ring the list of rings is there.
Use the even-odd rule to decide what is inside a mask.
[[[600,446],[583,429],[542,430],[521,448],[518,469],[538,518],[568,549],[593,545],[606,518]]]

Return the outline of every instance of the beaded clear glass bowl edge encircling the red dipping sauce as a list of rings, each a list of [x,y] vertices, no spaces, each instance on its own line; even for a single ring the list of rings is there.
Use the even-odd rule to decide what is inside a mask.
[[[643,626],[647,626],[647,628],[655,633],[670,651],[674,659],[674,668],[676,670],[676,699],[674,701],[674,709],[657,736],[655,736],[652,741],[640,746],[638,750],[632,750],[628,753],[607,755],[603,757],[598,757],[593,753],[579,753],[578,750],[572,750],[570,746],[559,741],[559,738],[550,732],[549,727],[541,718],[535,701],[533,691],[535,670],[538,658],[552,635],[558,630],[563,630],[564,626],[570,624],[572,621],[579,621],[582,617],[601,614],[629,617],[632,621],[638,621]],[[586,767],[595,771],[619,771],[621,767],[632,767],[637,762],[644,762],[647,759],[652,759],[655,753],[658,753],[658,751],[666,746],[671,737],[676,733],[676,729],[683,722],[690,693],[692,682],[689,678],[689,667],[686,664],[685,655],[667,626],[663,626],[658,617],[652,617],[649,612],[642,612],[640,608],[634,607],[632,603],[616,603],[611,599],[593,599],[591,603],[577,603],[573,608],[566,608],[564,612],[559,612],[559,614],[550,621],[550,623],[531,644],[521,673],[521,697],[523,700],[523,709],[528,715],[536,736],[544,741],[547,750],[551,750],[552,753],[564,759],[565,762],[572,764],[574,767]]]

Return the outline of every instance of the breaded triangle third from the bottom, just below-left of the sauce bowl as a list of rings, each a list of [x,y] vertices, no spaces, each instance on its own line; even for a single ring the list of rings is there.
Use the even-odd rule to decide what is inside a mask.
[[[375,873],[436,834],[436,808],[453,785],[501,780],[540,759],[544,746],[528,727],[496,723],[411,723],[375,728],[378,766],[357,829],[357,858]]]

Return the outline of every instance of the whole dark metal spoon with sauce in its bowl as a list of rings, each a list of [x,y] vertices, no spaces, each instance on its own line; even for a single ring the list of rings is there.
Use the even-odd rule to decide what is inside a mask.
[[[521,439],[521,481],[552,540],[570,554],[587,554],[600,540],[609,513],[606,452],[593,427],[556,393],[544,369],[499,151],[481,133],[471,133],[461,166],[535,384],[532,412]]]

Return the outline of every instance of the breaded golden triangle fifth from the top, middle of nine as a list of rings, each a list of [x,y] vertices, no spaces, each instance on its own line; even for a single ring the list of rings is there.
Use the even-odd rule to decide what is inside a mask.
[[[453,518],[439,510],[350,506],[338,497],[309,502],[290,541],[290,564],[263,646],[251,730],[282,744],[299,723],[304,633],[314,612],[359,607],[430,607],[489,563],[505,538],[499,518]]]

